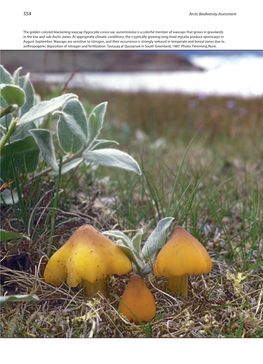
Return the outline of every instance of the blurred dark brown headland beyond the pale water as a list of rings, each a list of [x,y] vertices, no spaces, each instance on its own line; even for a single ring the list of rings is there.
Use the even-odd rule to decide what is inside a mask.
[[[23,74],[203,70],[173,51],[1,51],[1,63],[9,72],[23,67]]]

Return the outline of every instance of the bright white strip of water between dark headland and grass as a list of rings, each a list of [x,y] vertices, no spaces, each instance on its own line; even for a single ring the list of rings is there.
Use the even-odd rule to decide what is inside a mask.
[[[31,74],[31,80],[38,86],[59,86],[70,76],[70,73]],[[251,77],[248,74],[247,78],[242,78],[239,72],[224,73],[217,69],[207,72],[77,72],[67,88],[119,93],[181,93],[202,97],[263,97],[263,85],[255,72]]]

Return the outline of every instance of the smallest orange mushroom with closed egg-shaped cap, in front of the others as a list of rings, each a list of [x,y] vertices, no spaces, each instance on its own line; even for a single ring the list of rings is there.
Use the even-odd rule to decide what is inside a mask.
[[[156,304],[151,291],[141,276],[131,276],[121,297],[119,312],[130,322],[148,322],[156,314]]]

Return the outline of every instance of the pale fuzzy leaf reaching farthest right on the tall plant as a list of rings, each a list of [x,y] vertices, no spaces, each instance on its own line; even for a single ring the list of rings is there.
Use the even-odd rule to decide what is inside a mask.
[[[117,149],[98,149],[85,151],[83,157],[94,163],[107,167],[117,167],[126,171],[141,174],[138,163],[129,154]]]

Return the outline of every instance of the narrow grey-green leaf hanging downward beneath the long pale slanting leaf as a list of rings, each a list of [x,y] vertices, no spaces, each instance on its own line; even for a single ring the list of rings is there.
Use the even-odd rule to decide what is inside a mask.
[[[45,129],[33,129],[30,130],[30,134],[34,137],[40,151],[42,152],[43,159],[55,172],[58,172],[59,167],[56,161],[55,148],[50,131]]]

